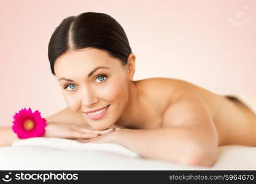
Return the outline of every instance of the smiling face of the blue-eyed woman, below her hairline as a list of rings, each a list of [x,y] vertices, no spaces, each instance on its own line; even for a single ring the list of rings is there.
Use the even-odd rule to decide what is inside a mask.
[[[127,65],[122,66],[104,50],[68,51],[56,59],[55,74],[69,109],[82,113],[92,128],[102,130],[114,125],[128,103],[128,81],[132,77]],[[104,107],[107,109],[98,115],[85,113]]]

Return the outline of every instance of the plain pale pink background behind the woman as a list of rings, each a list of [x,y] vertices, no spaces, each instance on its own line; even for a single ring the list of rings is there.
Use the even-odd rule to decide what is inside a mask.
[[[0,1],[1,121],[24,107],[48,117],[66,107],[48,42],[71,15],[103,12],[125,29],[134,80],[171,77],[214,93],[256,95],[256,1]],[[239,26],[239,23],[243,25]]]

